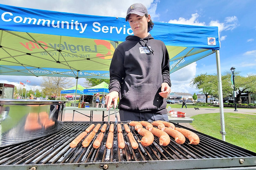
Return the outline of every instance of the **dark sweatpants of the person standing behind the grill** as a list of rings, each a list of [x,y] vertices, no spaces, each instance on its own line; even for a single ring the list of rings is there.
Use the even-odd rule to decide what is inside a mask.
[[[169,121],[167,114],[157,114],[150,112],[129,112],[119,110],[120,121]]]

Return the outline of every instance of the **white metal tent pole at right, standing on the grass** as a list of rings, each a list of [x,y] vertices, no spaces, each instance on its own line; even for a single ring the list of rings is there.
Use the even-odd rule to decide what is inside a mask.
[[[224,121],[224,107],[223,107],[223,95],[222,95],[222,81],[221,81],[221,62],[219,57],[219,50],[216,51],[216,65],[217,65],[217,78],[218,78],[218,92],[219,92],[219,112],[221,117],[221,131],[222,141],[226,141],[225,138],[225,121]]]

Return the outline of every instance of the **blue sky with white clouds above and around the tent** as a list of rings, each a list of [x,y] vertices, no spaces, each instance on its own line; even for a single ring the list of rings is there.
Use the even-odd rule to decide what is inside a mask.
[[[125,18],[127,8],[133,3],[143,3],[153,22],[168,22],[189,25],[218,26],[221,48],[221,71],[230,71],[234,66],[241,75],[256,74],[256,22],[254,0],[207,1],[207,0],[1,0],[1,4],[37,8],[51,11],[88,15],[118,16]],[[152,35],[154,36],[154,35]],[[217,74],[216,57],[211,54],[170,75],[173,92],[198,93],[190,81],[201,73]],[[18,85],[19,81],[31,86],[40,86],[40,77],[0,76],[0,82]],[[83,85],[85,79],[78,79]],[[75,85],[75,80],[74,80]]]

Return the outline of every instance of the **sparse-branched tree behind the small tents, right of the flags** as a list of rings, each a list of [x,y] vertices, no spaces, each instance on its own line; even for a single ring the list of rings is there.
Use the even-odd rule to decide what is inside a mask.
[[[43,94],[48,96],[58,96],[61,93],[61,90],[66,89],[72,86],[73,78],[69,77],[42,77]]]

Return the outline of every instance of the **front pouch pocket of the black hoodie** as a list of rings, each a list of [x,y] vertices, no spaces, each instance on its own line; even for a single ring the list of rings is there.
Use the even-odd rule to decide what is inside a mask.
[[[120,100],[121,109],[133,111],[156,110],[163,104],[159,95],[161,87],[158,84],[132,85]]]

